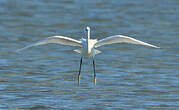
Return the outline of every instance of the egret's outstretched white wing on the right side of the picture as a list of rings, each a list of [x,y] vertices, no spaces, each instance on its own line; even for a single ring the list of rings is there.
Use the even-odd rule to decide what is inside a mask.
[[[154,48],[160,48],[155,45],[151,45],[149,43],[142,42],[134,38],[123,36],[123,35],[115,35],[115,36],[110,36],[110,37],[101,39],[95,44],[95,47],[100,47],[102,45],[113,44],[113,43],[131,43],[131,44],[139,44],[139,45],[144,45],[144,46],[149,46],[149,47],[154,47]]]

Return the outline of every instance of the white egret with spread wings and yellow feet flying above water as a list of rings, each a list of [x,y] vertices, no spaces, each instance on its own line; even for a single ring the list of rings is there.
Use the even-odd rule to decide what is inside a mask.
[[[81,54],[81,60],[80,60],[80,67],[79,67],[79,73],[78,73],[78,84],[80,84],[80,73],[81,73],[81,65],[82,65],[82,59],[83,57],[92,57],[93,58],[93,69],[94,69],[94,84],[96,84],[96,72],[95,72],[95,62],[94,62],[94,57],[96,54],[101,53],[101,51],[97,50],[97,47],[106,45],[106,44],[113,44],[113,43],[131,43],[131,44],[139,44],[139,45],[144,45],[144,46],[149,46],[149,47],[154,47],[154,48],[160,48],[154,45],[151,45],[146,42],[142,42],[139,40],[136,40],[134,38],[128,37],[128,36],[123,36],[123,35],[114,35],[110,36],[101,40],[97,39],[91,39],[90,38],[90,27],[86,27],[85,29],[87,35],[86,39],[83,37],[80,40],[75,40],[69,37],[65,36],[52,36],[48,37],[47,39],[37,42],[35,44],[26,46],[22,49],[17,50],[17,52],[20,52],[24,49],[27,49],[29,47],[33,46],[39,46],[39,45],[44,45],[44,44],[49,44],[49,43],[56,43],[56,44],[62,44],[62,45],[70,45],[70,46],[77,46],[80,47],[79,49],[74,50],[75,52],[78,52]]]

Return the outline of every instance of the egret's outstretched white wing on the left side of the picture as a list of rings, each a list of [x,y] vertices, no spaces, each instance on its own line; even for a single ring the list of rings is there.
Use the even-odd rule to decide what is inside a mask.
[[[78,40],[75,40],[75,39],[72,39],[72,38],[69,38],[69,37],[64,37],[64,36],[52,36],[52,37],[48,37],[47,39],[45,39],[43,41],[39,41],[35,44],[26,46],[22,49],[18,49],[16,52],[20,52],[20,51],[27,49],[27,48],[30,48],[30,47],[45,45],[45,44],[49,44],[49,43],[56,43],[56,44],[62,44],[62,45],[82,47],[81,41],[78,41]]]

